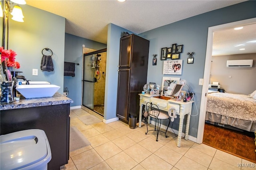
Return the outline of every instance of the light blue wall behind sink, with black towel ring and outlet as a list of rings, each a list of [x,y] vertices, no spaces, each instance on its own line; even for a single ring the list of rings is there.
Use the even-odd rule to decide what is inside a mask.
[[[16,22],[9,15],[9,49],[17,53],[16,61],[20,63],[27,80],[48,81],[60,86],[63,92],[65,18],[55,14],[22,5],[24,22]],[[41,71],[42,49],[50,48],[53,52],[54,71]],[[44,54],[50,55],[44,50]],[[32,76],[32,69],[38,69],[38,76]]]

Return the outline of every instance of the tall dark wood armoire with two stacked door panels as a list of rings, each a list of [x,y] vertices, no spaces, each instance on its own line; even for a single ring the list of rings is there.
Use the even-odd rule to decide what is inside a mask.
[[[139,118],[138,94],[147,83],[148,51],[149,41],[144,38],[131,34],[120,39],[116,115],[127,124],[129,114]]]

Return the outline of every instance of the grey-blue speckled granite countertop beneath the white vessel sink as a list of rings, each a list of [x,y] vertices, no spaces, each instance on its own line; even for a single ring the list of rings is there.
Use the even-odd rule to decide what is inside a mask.
[[[40,98],[30,98],[26,99],[20,95],[20,101],[14,101],[12,103],[0,103],[0,110],[9,110],[9,109],[21,109],[28,107],[40,107],[40,106],[49,106],[49,105],[61,105],[73,103],[71,99],[60,94],[55,93],[52,97],[40,97]]]

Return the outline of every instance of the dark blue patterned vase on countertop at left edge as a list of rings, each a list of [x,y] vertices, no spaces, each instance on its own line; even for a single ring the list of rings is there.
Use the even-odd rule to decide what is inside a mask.
[[[14,101],[13,89],[14,81],[4,81],[1,84],[1,103],[10,103]]]

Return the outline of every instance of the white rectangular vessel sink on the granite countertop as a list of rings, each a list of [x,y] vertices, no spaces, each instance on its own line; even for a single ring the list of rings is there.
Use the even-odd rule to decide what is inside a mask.
[[[60,89],[57,85],[17,85],[16,90],[25,98],[52,97]]]

